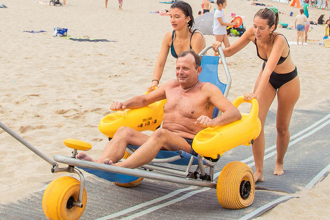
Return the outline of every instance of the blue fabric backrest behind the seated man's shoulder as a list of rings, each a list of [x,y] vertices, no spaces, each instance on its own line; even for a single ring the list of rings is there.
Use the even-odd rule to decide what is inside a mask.
[[[207,56],[204,55],[201,60],[202,72],[199,75],[199,80],[202,82],[211,82],[215,84],[224,94],[227,84],[220,82],[218,77],[218,56]],[[214,108],[213,118],[218,114],[219,110]]]

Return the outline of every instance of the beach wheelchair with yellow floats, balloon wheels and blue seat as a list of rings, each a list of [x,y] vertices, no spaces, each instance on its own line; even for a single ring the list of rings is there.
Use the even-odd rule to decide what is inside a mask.
[[[201,56],[210,48],[212,48],[211,45],[203,49],[199,55]],[[201,81],[209,81],[217,85],[227,96],[231,78],[221,47],[219,47],[219,53],[227,83],[224,84],[218,79],[219,57],[216,56],[203,56],[203,70],[199,77]],[[239,97],[233,104],[238,107],[243,102],[246,101],[243,97]],[[131,127],[138,131],[155,131],[161,126],[165,103],[166,100],[161,100],[141,109],[108,114],[101,119],[99,130],[109,139],[121,126]],[[0,127],[51,164],[52,173],[68,172],[79,175],[80,181],[71,176],[62,176],[50,182],[42,201],[44,213],[49,219],[79,219],[82,216],[87,203],[87,194],[84,188],[84,176],[80,169],[122,187],[134,187],[140,184],[143,178],[149,178],[191,186],[215,188],[218,201],[222,207],[239,209],[249,206],[254,199],[255,182],[251,169],[245,163],[230,162],[222,169],[217,181],[215,181],[214,167],[225,151],[242,144],[249,146],[260,134],[261,123],[258,118],[258,102],[253,99],[248,103],[251,103],[251,110],[249,113],[241,113],[241,120],[214,128],[205,128],[195,136],[192,147],[198,154],[197,157],[182,150],[176,152],[160,150],[150,163],[136,169],[76,159],[78,150],[87,151],[92,148],[89,143],[76,139],[64,141],[67,147],[73,149],[71,157],[54,155],[54,160],[51,160],[1,122]],[[219,114],[221,112],[215,109],[214,116]],[[138,146],[128,145],[120,161],[128,158],[137,148]],[[57,162],[67,164],[68,167],[59,168]],[[160,165],[164,163],[185,167],[184,169],[177,169],[166,164]],[[197,165],[196,168],[193,167],[195,165]]]

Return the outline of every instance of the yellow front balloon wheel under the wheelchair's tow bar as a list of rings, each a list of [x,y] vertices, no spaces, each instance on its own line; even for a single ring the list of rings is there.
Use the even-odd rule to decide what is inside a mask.
[[[72,204],[78,200],[79,189],[80,181],[71,176],[62,176],[51,181],[42,198],[42,207],[46,217],[52,220],[79,219],[87,203],[87,193],[84,188],[82,208]]]

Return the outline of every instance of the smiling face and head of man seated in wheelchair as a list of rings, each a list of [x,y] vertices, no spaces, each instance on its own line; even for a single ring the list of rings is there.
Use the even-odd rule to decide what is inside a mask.
[[[195,58],[192,54],[179,57],[176,63],[175,74],[180,84],[195,82],[201,72],[201,67],[196,69]]]

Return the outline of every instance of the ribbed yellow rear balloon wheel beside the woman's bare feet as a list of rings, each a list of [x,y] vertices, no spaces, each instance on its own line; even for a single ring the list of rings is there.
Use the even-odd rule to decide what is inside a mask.
[[[248,165],[234,161],[222,169],[216,185],[216,195],[222,207],[248,207],[253,202],[254,192],[253,173]]]

